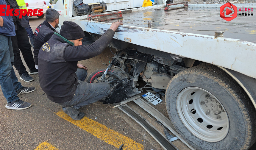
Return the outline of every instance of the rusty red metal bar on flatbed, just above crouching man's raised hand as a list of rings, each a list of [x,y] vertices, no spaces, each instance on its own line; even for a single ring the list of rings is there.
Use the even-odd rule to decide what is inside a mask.
[[[97,11],[97,10],[94,10],[94,11]],[[123,18],[123,15],[121,11],[91,14],[87,16],[87,20],[91,19],[92,21],[94,21],[95,17],[100,17],[100,20],[98,21],[106,21],[106,20],[113,20],[113,19],[121,19]]]

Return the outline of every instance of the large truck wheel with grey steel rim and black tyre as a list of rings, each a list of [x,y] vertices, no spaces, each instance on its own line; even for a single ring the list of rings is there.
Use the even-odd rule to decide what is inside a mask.
[[[214,65],[174,76],[166,89],[168,115],[196,149],[249,149],[255,143],[255,108],[242,87]]]

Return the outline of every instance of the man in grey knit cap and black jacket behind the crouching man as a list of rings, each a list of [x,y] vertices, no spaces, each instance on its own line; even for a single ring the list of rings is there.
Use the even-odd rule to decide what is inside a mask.
[[[50,40],[54,32],[57,32],[55,28],[59,25],[59,12],[54,9],[48,9],[45,12],[45,21],[35,29],[35,40],[34,40],[34,59],[35,68],[38,69],[38,52],[42,45]]]

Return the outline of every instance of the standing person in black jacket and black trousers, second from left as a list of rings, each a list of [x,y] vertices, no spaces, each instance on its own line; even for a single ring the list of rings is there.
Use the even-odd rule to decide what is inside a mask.
[[[5,0],[8,5],[10,5],[10,9],[19,9],[19,6],[16,0]],[[12,13],[14,14],[14,10]],[[12,44],[13,44],[13,53],[14,53],[14,67],[18,70],[20,75],[20,79],[25,82],[33,81],[34,79],[29,76],[29,74],[38,74],[38,70],[35,68],[34,57],[31,51],[31,45],[29,43],[29,37],[27,35],[25,27],[29,27],[26,19],[19,18],[19,15],[12,16],[13,23],[15,25],[15,36],[12,36]],[[26,65],[29,68],[29,74],[26,71],[25,66],[22,63],[20,51],[22,56],[26,62]]]

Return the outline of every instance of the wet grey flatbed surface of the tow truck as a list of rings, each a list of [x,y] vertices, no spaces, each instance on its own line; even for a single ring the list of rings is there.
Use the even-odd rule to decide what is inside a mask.
[[[165,11],[163,5],[141,11],[123,14],[123,24],[127,26],[193,33],[213,36],[221,30],[225,38],[233,38],[256,43],[256,4],[235,4],[236,7],[252,7],[254,16],[237,16],[232,21],[220,17],[222,4],[189,4],[186,8]],[[239,10],[238,10],[239,12]],[[116,20],[104,21],[112,23]]]

